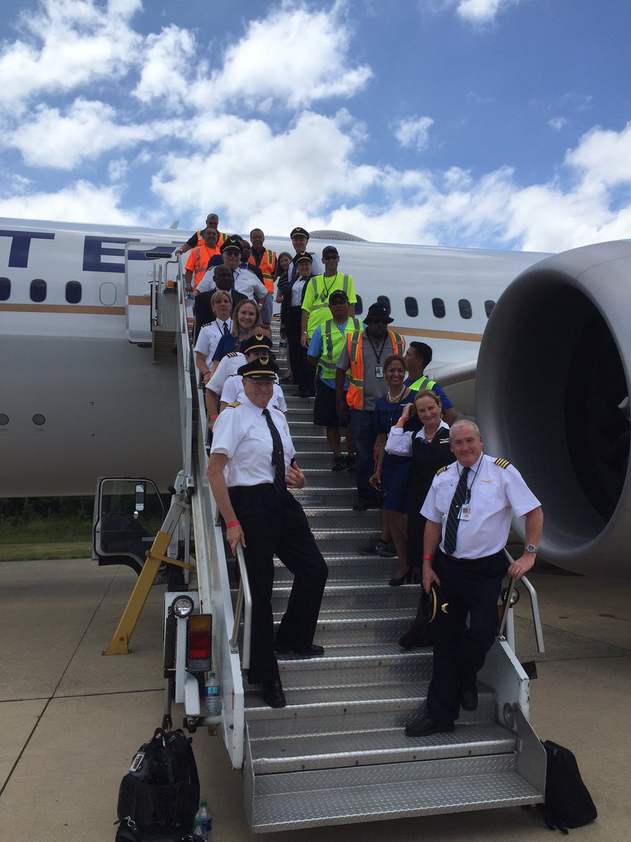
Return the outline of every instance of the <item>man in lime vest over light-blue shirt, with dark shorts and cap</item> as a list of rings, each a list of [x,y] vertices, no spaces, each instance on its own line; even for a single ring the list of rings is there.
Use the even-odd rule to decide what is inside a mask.
[[[355,467],[355,443],[347,422],[337,415],[335,407],[336,363],[342,354],[347,333],[361,333],[362,322],[348,317],[350,309],[344,290],[331,292],[328,301],[329,315],[323,324],[315,328],[307,349],[307,360],[315,365],[315,402],[313,423],[326,429],[326,440],[333,454],[331,471],[352,470]],[[348,372],[347,372],[348,374]],[[344,383],[344,394],[348,389],[348,376]],[[346,429],[347,457],[342,456],[340,427]]]

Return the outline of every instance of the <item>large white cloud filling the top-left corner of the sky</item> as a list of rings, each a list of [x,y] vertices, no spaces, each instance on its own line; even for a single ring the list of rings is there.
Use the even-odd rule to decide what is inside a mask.
[[[130,19],[141,0],[41,0],[23,16],[27,36],[0,54],[0,107],[22,109],[35,93],[116,79],[136,61],[141,36]],[[38,46],[39,45],[39,46]]]

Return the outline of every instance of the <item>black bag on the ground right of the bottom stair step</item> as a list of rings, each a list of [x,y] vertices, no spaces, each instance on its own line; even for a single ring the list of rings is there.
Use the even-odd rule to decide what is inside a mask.
[[[548,759],[545,802],[537,807],[550,830],[558,828],[567,834],[568,828],[593,822],[597,810],[570,749],[549,739],[543,746]]]

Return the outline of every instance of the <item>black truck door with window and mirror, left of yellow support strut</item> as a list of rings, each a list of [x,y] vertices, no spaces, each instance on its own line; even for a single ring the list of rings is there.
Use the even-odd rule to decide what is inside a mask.
[[[94,497],[93,558],[140,573],[162,526],[165,507],[146,477],[99,477]]]

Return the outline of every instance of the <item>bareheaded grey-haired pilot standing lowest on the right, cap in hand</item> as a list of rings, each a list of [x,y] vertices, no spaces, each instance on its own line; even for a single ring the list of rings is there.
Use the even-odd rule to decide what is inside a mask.
[[[475,678],[497,632],[512,515],[526,515],[526,546],[508,568],[515,579],[533,567],[544,524],[541,504],[517,469],[482,453],[472,421],[456,421],[449,439],[456,461],[437,472],[421,509],[427,518],[423,587],[427,593],[440,587],[447,613],[434,640],[427,713],[406,727],[408,737],[453,731],[460,707],[475,711]]]

